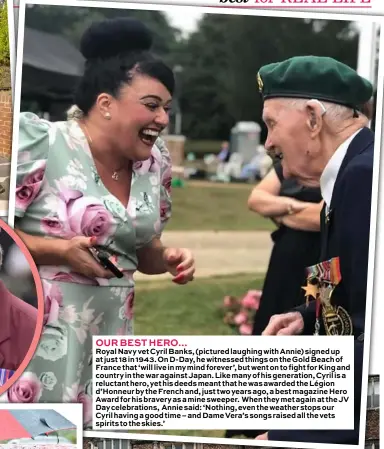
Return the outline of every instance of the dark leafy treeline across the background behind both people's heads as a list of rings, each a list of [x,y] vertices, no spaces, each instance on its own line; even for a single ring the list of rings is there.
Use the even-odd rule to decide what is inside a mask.
[[[228,139],[237,121],[262,124],[256,75],[264,64],[308,54],[354,68],[357,63],[358,33],[346,21],[210,13],[182,38],[161,11],[30,5],[26,26],[61,34],[78,47],[92,22],[121,16],[146,23],[155,35],[153,50],[171,67],[182,68],[176,97],[188,138]]]

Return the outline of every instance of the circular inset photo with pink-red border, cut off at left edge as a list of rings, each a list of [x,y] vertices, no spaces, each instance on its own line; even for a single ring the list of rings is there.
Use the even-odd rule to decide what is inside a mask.
[[[0,220],[0,395],[31,360],[43,326],[42,283],[27,247]]]

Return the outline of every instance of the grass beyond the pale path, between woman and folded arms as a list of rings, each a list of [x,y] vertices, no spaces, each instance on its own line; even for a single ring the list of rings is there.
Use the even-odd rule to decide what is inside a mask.
[[[167,231],[258,231],[274,229],[271,220],[247,206],[250,184],[187,182],[172,190],[172,218]]]

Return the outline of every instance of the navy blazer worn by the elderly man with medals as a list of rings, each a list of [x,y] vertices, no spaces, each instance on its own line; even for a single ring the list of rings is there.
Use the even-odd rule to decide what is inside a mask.
[[[373,174],[374,135],[363,128],[350,143],[333,189],[329,223],[322,211],[321,261],[340,258],[341,282],[332,294],[332,304],[342,306],[350,315],[354,341],[354,415],[353,430],[271,430],[270,440],[328,444],[358,444],[361,384],[364,350],[364,322],[367,295],[369,231]],[[305,335],[313,335],[315,301],[298,307],[304,319]],[[325,334],[324,326],[320,334]],[[365,379],[365,381],[368,381]]]

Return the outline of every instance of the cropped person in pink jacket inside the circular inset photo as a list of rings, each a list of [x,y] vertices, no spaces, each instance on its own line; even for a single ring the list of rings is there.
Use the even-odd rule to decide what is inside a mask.
[[[0,246],[0,268],[3,250]],[[32,343],[37,323],[37,309],[12,295],[0,281],[1,325],[0,368],[16,371]]]

